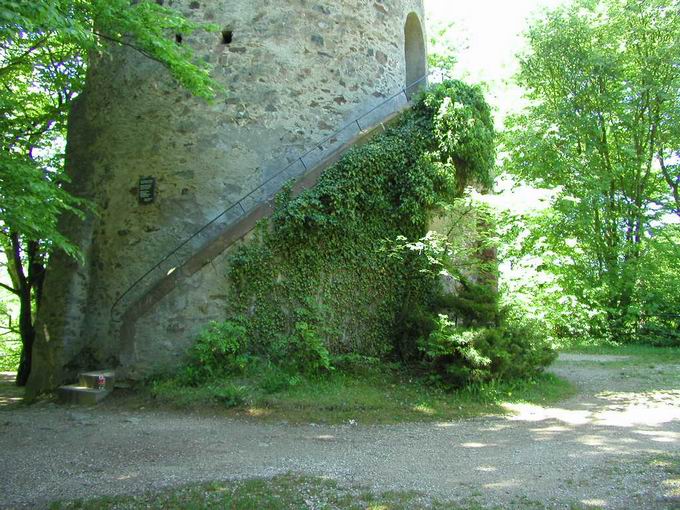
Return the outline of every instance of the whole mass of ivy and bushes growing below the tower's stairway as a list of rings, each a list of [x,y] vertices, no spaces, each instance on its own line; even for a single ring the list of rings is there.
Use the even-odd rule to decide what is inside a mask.
[[[450,209],[467,185],[491,182],[493,137],[479,89],[446,82],[314,188],[282,191],[229,274],[232,312],[244,318],[267,391],[327,374],[331,353],[396,355],[455,386],[535,375],[551,361],[530,327],[501,320],[493,273],[456,265],[462,255],[488,258],[486,241],[427,233],[434,212]],[[483,211],[468,221],[493,230]],[[485,283],[467,282],[465,271]],[[442,276],[462,289],[445,297]]]

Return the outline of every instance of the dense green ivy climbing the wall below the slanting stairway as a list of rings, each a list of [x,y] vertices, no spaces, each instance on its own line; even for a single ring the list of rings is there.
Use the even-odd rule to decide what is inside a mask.
[[[405,303],[432,300],[438,279],[419,266],[427,264],[422,257],[394,257],[385,247],[423,238],[432,215],[466,186],[490,183],[494,160],[480,89],[448,81],[314,188],[295,198],[284,189],[276,212],[230,264],[231,312],[253,351],[271,354],[301,331],[333,354],[399,351]]]

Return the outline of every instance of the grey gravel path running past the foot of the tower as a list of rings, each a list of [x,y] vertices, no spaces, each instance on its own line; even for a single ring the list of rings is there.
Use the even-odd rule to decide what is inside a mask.
[[[0,410],[0,505],[296,472],[377,490],[548,508],[679,508],[650,463],[678,454],[679,366],[560,359],[579,386],[550,408],[391,426],[292,426],[51,404]],[[528,503],[527,503],[528,504]]]

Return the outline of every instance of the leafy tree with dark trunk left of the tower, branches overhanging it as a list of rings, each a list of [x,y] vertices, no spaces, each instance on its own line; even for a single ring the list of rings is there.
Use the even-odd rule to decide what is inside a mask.
[[[87,206],[63,185],[67,115],[83,89],[88,62],[111,46],[128,46],[164,65],[198,96],[215,85],[174,34],[198,25],[154,2],[129,0],[0,0],[0,248],[20,300],[23,342],[17,383],[31,365],[34,315],[53,249],[78,257],[58,229],[63,213]],[[209,28],[209,27],[203,27]]]

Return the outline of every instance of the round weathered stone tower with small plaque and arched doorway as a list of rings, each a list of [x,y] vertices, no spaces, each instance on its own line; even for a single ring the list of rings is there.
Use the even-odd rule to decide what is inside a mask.
[[[192,97],[129,48],[92,64],[71,115],[67,168],[72,191],[97,213],[64,219],[84,261],[57,254],[50,263],[34,389],[83,368],[141,376],[176,364],[196,331],[224,313],[224,262],[211,259],[167,291],[135,317],[135,331],[126,329],[130,309],[283,182],[403,108],[426,74],[422,0],[170,5],[220,27],[169,36],[211,63],[227,94]]]

